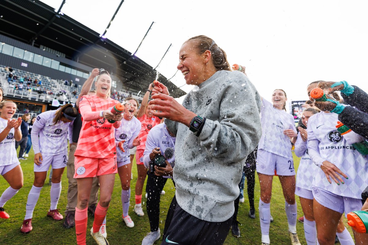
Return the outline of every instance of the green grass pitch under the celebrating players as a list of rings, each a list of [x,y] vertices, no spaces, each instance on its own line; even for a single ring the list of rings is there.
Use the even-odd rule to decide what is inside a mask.
[[[27,160],[21,162],[21,166],[24,174],[24,187],[5,205],[5,210],[10,215],[10,219],[0,219],[0,244],[7,245],[38,245],[38,244],[52,244],[52,245],[64,245],[64,244],[76,244],[75,229],[66,229],[63,227],[63,221],[54,221],[52,218],[47,217],[46,213],[50,207],[50,186],[48,184],[48,178],[45,181],[45,185],[41,191],[40,198],[33,212],[33,231],[29,234],[22,234],[20,227],[25,215],[25,204],[28,196],[28,192],[33,184],[33,150],[29,154]],[[294,164],[297,169],[299,165],[299,159],[294,156]],[[134,221],[134,228],[128,228],[125,226],[124,221],[121,219],[121,187],[118,176],[115,179],[115,186],[110,208],[107,212],[107,239],[111,245],[114,244],[130,244],[139,245],[142,239],[145,237],[149,230],[148,216],[138,217],[132,210],[134,207],[134,187],[137,180],[137,167],[133,164],[133,180],[131,181],[131,205],[130,216]],[[65,207],[67,205],[67,186],[68,180],[66,176],[66,170],[64,171],[62,179],[63,189],[61,191],[60,201],[58,208],[64,215]],[[2,193],[8,187],[8,183],[4,178],[0,177],[0,193]],[[245,187],[246,188],[246,187]],[[167,181],[164,187],[166,191],[165,195],[161,196],[160,204],[160,230],[161,234],[164,228],[167,209],[169,208],[171,199],[174,196],[174,185],[171,181]],[[246,192],[246,191],[245,191]],[[145,193],[145,191],[143,192]],[[145,198],[142,199],[143,210],[146,213]],[[231,235],[231,231],[226,238],[224,244],[227,245],[240,245],[240,244],[260,244],[261,243],[261,229],[259,226],[258,216],[258,201],[259,201],[259,181],[256,177],[255,184],[255,207],[256,207],[256,219],[250,219],[248,217],[249,204],[246,197],[245,203],[240,203],[238,221],[241,223],[240,231],[241,237],[235,238]],[[290,244],[290,239],[287,234],[287,219],[284,211],[284,198],[280,181],[277,177],[273,180],[272,189],[272,201],[271,201],[271,214],[275,221],[270,226],[270,239],[271,244]],[[297,197],[298,205],[298,217],[302,216],[300,202]],[[346,220],[345,220],[346,221]],[[93,218],[89,217],[88,227],[91,228]],[[348,227],[346,225],[346,227]],[[351,229],[348,228],[351,233]],[[306,244],[304,239],[304,231],[302,223],[297,222],[298,236],[301,244]],[[156,241],[155,244],[160,244],[161,240]],[[87,244],[95,244],[95,241],[89,234],[87,235]]]

